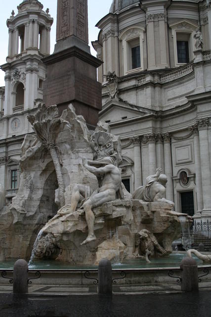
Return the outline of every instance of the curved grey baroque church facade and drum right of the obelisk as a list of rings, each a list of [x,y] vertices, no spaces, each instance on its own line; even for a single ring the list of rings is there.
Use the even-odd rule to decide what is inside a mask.
[[[133,192],[162,167],[175,210],[211,221],[211,1],[113,0],[92,42],[100,120]]]

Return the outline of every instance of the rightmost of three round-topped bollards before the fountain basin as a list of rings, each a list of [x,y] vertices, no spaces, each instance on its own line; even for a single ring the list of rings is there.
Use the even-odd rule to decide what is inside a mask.
[[[181,270],[181,290],[191,292],[199,290],[198,265],[193,258],[186,257],[180,264]]]

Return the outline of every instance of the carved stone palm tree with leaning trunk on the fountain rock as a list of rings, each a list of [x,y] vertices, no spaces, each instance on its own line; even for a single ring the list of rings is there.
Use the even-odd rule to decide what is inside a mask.
[[[61,170],[62,160],[60,150],[55,145],[55,139],[58,135],[61,124],[67,122],[59,118],[58,108],[56,105],[49,107],[42,105],[35,115],[29,115],[27,118],[32,124],[33,130],[35,131],[38,140],[42,143],[42,161],[48,152],[50,153],[50,156],[53,160],[59,186],[60,205],[63,207],[65,205],[65,188]]]

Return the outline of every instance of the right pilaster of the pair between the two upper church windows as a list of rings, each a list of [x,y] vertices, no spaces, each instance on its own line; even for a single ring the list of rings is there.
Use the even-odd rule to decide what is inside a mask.
[[[159,21],[159,35],[160,35],[160,52],[161,52],[161,65],[163,67],[168,66],[168,47],[167,47],[167,23],[166,23],[167,14],[165,12],[158,14],[158,21]]]

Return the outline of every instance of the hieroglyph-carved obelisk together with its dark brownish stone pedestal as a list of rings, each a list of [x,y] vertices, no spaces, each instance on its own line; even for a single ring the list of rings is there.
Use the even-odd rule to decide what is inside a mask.
[[[47,66],[45,105],[56,104],[61,113],[72,103],[94,128],[102,106],[96,71],[102,61],[90,54],[88,46],[87,0],[57,0],[56,45],[42,61]]]

